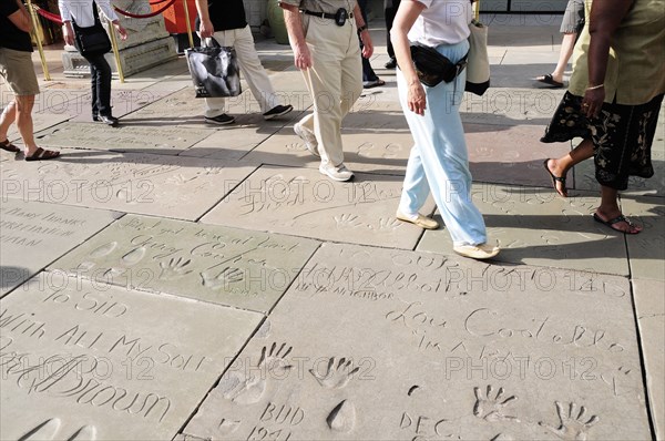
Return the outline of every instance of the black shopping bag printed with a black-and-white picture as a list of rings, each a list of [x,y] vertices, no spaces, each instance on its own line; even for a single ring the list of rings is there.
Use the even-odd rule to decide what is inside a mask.
[[[241,94],[241,70],[234,48],[213,45],[185,49],[196,98],[226,98]],[[203,44],[203,42],[202,42]]]

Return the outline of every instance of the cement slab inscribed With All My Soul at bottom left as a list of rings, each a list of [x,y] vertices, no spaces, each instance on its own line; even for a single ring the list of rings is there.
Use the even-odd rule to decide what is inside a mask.
[[[42,273],[0,300],[4,440],[172,439],[262,320],[84,279],[59,281]]]

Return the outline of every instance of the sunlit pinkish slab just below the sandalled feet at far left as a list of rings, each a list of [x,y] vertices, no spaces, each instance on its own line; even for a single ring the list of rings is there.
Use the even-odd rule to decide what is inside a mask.
[[[61,152],[39,164],[0,161],[4,195],[194,221],[254,171],[235,161]]]

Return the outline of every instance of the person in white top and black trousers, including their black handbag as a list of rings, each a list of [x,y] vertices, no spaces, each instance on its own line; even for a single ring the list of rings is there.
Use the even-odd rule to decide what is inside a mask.
[[[119,121],[111,113],[111,66],[104,54],[111,50],[109,35],[100,21],[98,6],[113,24],[122,40],[127,32],[120,24],[110,0],[59,0],[62,16],[62,35],[66,44],[73,44],[90,63],[92,120],[116,126]],[[113,32],[113,29],[111,29]]]

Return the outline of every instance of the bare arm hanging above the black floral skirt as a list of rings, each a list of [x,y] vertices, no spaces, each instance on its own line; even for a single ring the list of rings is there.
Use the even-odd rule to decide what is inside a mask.
[[[605,82],[607,59],[610,58],[610,43],[612,34],[616,31],[622,20],[628,13],[633,0],[594,1],[589,19],[589,86],[584,93],[583,106],[587,116],[596,116],[605,100]]]

